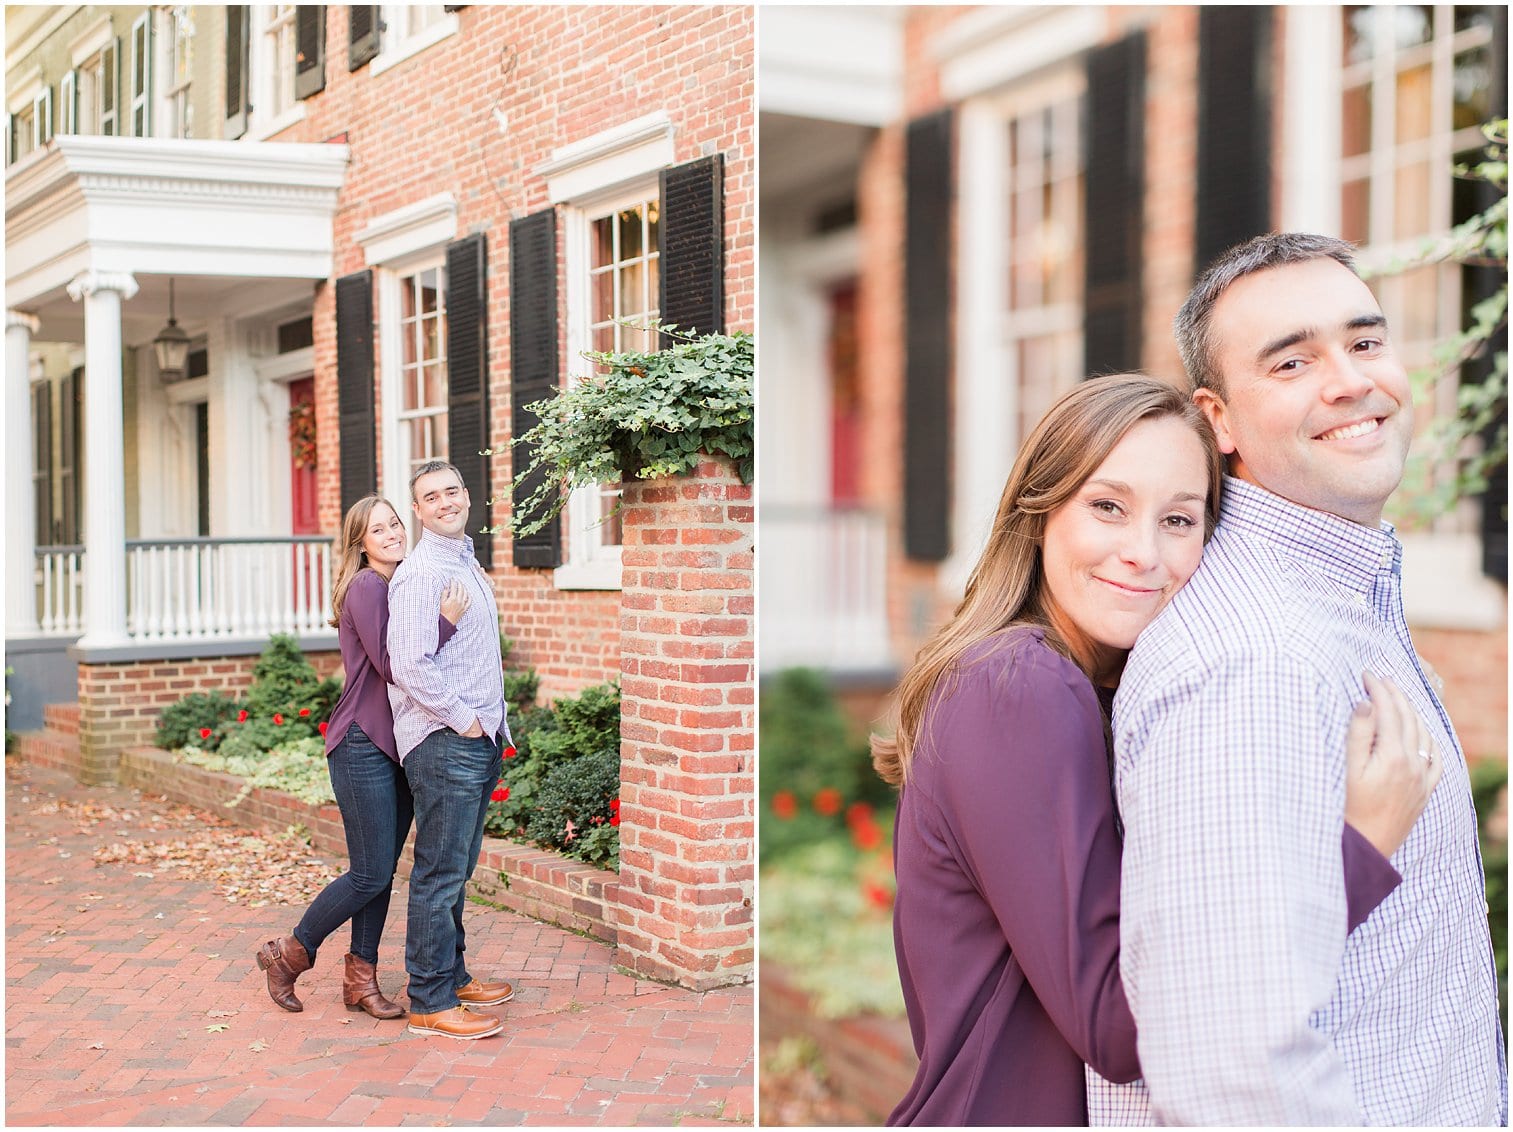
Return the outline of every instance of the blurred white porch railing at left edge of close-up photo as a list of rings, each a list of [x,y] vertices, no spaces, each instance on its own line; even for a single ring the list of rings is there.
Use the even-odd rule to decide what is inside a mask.
[[[776,504],[761,508],[760,531],[763,670],[891,666],[882,516]]]

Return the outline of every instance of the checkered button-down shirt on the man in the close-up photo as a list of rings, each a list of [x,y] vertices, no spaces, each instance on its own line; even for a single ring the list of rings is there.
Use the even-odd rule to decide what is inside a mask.
[[[1507,1064],[1460,743],[1403,616],[1401,543],[1239,480],[1115,701],[1124,991],[1144,1084],[1092,1124],[1492,1124]],[[1445,773],[1347,935],[1345,729],[1371,670]],[[1147,1087],[1148,1085],[1148,1093]]]

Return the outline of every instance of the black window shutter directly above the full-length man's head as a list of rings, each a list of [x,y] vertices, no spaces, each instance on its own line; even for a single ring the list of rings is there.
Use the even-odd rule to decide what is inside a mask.
[[[489,248],[484,235],[446,245],[446,451],[472,499],[474,552],[493,568],[489,525]]]

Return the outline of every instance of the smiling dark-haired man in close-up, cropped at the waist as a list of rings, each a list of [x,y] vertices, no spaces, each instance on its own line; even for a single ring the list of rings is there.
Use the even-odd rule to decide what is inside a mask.
[[[1121,973],[1148,1087],[1089,1073],[1092,1123],[1490,1124],[1507,1067],[1466,763],[1409,640],[1381,522],[1413,412],[1351,247],[1226,253],[1176,319],[1230,457],[1194,580],[1115,704]],[[1347,937],[1345,728],[1362,673],[1428,722],[1443,776]]]

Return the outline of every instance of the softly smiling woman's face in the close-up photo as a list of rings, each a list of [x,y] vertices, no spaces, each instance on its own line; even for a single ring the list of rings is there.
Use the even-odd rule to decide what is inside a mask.
[[[1174,416],[1130,428],[1050,513],[1041,555],[1053,617],[1120,655],[1198,569],[1203,442]]]

